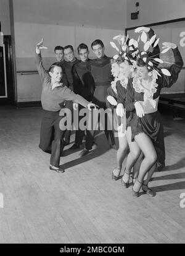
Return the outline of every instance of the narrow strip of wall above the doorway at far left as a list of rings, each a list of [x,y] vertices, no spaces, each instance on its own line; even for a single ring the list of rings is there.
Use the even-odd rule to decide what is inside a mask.
[[[0,21],[1,30],[4,35],[10,35],[10,13],[8,0],[0,0]]]

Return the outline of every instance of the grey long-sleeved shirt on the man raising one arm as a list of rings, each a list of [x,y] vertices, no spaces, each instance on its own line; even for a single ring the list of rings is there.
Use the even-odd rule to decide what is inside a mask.
[[[41,103],[44,110],[57,112],[60,110],[60,105],[64,100],[72,100],[78,104],[87,107],[89,102],[78,94],[75,94],[64,84],[52,89],[51,87],[51,76],[48,71],[43,67],[43,61],[40,54],[35,55],[36,67],[38,69],[39,76],[43,84],[43,90],[41,93]]]

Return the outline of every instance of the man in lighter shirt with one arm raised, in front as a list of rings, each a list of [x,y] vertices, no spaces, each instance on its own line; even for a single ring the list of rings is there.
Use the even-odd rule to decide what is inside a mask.
[[[54,64],[46,71],[43,67],[43,61],[41,58],[41,49],[47,49],[43,46],[43,40],[36,45],[36,67],[38,69],[39,76],[41,77],[43,89],[41,93],[41,104],[43,106],[43,120],[41,123],[40,143],[39,148],[44,152],[51,150],[51,159],[49,169],[56,172],[64,172],[64,169],[59,166],[60,154],[62,148],[62,135],[65,127],[59,127],[60,104],[64,100],[72,100],[78,104],[87,107],[91,110],[91,107],[96,108],[94,104],[88,102],[83,97],[75,94],[71,89],[62,84],[62,68],[58,64]],[[54,133],[54,138],[53,138]]]

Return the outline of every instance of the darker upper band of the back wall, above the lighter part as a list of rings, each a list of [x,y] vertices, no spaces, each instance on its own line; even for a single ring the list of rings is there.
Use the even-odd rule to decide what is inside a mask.
[[[123,30],[126,0],[13,0],[16,22]]]

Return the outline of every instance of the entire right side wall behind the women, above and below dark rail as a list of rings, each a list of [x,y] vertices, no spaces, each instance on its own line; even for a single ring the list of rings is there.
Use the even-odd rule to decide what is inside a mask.
[[[128,4],[129,2],[129,4]],[[158,22],[164,22],[167,20],[184,18],[184,10],[185,10],[185,1],[184,0],[141,0],[139,1],[139,15],[137,20],[131,20],[130,13],[134,11],[136,1],[129,0],[127,1],[127,22],[126,27],[137,27],[147,24],[155,24]],[[163,25],[154,25],[152,26],[155,33],[158,37],[160,37],[160,48],[162,47],[162,42],[173,42],[178,45],[179,51],[185,60],[185,21],[181,22],[173,22],[167,23]],[[134,30],[128,30],[128,35],[130,37],[138,38],[138,35],[134,33]],[[168,57],[170,58],[172,52],[168,52]],[[161,56],[161,58],[163,58]],[[170,61],[167,60],[167,61]],[[173,58],[171,59],[171,63],[173,63]],[[185,61],[184,61],[185,62]],[[185,66],[185,64],[184,64]],[[170,88],[165,88],[162,90],[163,94],[168,93],[184,93],[185,92],[185,69],[181,70],[179,74],[178,81],[173,84]]]

